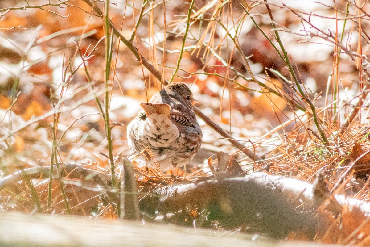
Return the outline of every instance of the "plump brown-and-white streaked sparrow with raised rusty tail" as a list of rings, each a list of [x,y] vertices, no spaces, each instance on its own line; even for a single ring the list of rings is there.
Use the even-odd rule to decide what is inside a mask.
[[[162,170],[188,164],[201,147],[193,94],[184,83],[171,83],[154,94],[127,127],[128,146],[139,153],[149,146]]]

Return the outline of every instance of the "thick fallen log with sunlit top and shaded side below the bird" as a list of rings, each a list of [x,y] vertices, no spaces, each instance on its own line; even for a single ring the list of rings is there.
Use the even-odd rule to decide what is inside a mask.
[[[149,204],[153,207],[158,203],[158,208],[151,210],[166,214],[189,205],[201,207],[208,210],[208,219],[217,220],[226,228],[252,224],[274,237],[285,237],[295,230],[313,237],[318,224],[315,210],[323,203],[329,213],[341,213],[344,205],[357,207],[365,215],[370,213],[369,203],[332,196],[323,179],[318,180],[320,183],[312,185],[293,178],[253,173],[243,178],[169,186],[143,200],[141,208],[148,210]],[[304,207],[297,207],[300,204]]]

